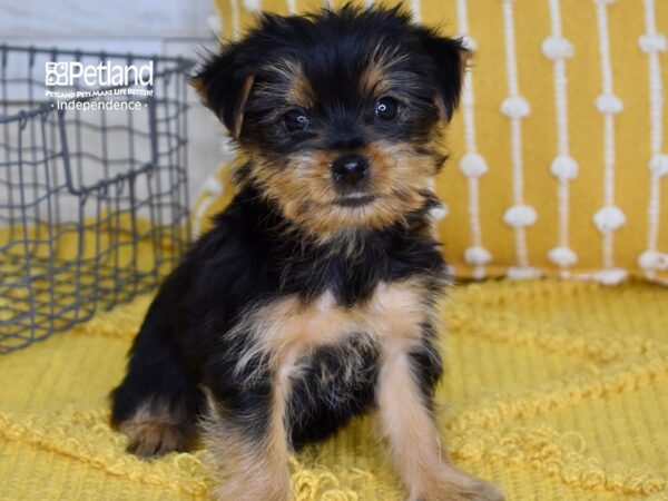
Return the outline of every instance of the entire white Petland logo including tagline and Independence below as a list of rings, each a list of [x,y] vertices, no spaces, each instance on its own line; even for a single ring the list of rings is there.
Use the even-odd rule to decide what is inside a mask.
[[[154,61],[141,66],[47,61],[45,92],[51,107],[59,110],[137,110],[148,106],[154,96],[153,77]]]

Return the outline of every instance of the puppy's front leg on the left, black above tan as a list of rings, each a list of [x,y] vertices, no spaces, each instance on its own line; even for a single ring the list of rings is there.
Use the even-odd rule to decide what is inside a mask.
[[[206,391],[204,440],[223,481],[219,501],[286,501],[291,497],[286,405],[288,371],[253,387]]]

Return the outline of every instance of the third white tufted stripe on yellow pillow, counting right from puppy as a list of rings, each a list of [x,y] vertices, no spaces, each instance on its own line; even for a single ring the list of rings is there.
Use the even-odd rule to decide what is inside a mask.
[[[551,35],[542,42],[543,55],[553,61],[554,111],[557,117],[557,156],[550,165],[558,179],[557,199],[559,216],[559,245],[548,253],[548,258],[560,268],[560,276],[570,276],[569,267],[578,262],[578,255],[569,246],[569,183],[578,175],[578,163],[570,155],[568,134],[568,80],[566,60],[573,56],[572,43],[563,37],[560,0],[548,0]]]

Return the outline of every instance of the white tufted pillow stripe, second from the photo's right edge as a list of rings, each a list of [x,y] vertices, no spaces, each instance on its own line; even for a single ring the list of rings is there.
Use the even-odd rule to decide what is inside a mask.
[[[618,284],[627,277],[627,271],[615,266],[615,232],[626,223],[626,215],[615,205],[615,115],[621,112],[623,104],[612,88],[610,62],[610,36],[608,32],[608,6],[616,0],[593,0],[598,24],[599,52],[601,58],[602,94],[596,107],[603,116],[603,206],[593,216],[593,223],[603,236],[602,269],[596,278],[603,284]]]

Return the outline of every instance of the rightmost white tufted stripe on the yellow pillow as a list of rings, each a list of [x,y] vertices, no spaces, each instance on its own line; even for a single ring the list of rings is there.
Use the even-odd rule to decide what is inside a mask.
[[[668,155],[664,153],[664,85],[660,52],[666,51],[666,37],[657,32],[655,0],[644,0],[646,32],[638,40],[647,53],[649,70],[650,170],[647,249],[639,256],[638,265],[648,278],[656,278],[658,269],[668,268],[668,255],[657,249],[661,202],[661,177],[668,175]]]

